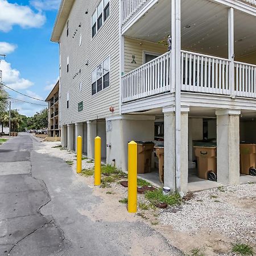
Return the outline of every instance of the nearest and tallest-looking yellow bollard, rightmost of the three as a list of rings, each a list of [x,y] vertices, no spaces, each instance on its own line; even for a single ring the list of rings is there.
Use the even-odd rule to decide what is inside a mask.
[[[137,212],[137,143],[128,143],[128,212]]]

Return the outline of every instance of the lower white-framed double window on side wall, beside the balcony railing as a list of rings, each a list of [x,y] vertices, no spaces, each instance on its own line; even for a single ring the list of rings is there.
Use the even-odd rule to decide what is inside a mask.
[[[92,72],[92,95],[109,87],[110,57],[106,58]]]

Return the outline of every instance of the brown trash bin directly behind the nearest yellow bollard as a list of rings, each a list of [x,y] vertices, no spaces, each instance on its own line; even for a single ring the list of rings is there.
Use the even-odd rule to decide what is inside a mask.
[[[151,157],[154,151],[154,142],[136,141],[137,143],[137,168],[138,174],[144,174],[151,171]]]

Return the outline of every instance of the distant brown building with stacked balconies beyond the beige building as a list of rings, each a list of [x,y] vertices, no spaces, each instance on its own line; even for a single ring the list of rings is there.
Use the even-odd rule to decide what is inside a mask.
[[[60,137],[59,81],[49,93],[46,102],[48,102],[48,135]]]

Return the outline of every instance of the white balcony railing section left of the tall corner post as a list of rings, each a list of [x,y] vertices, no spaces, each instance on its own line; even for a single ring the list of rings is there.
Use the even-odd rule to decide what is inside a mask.
[[[171,91],[171,52],[122,76],[122,102]]]

